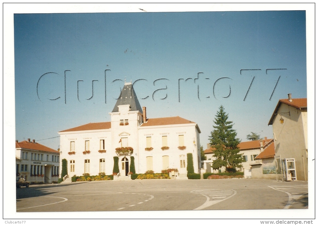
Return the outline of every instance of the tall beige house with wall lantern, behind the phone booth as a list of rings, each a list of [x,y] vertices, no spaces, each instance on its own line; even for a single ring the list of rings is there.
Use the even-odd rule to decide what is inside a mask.
[[[308,180],[307,98],[280,99],[268,122],[273,125],[279,179]]]

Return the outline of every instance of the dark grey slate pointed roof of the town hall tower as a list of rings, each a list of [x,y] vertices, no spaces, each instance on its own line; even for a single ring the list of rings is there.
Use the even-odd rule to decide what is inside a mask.
[[[125,82],[125,85],[121,90],[121,94],[112,112],[118,112],[118,106],[120,105],[130,105],[130,111],[139,111],[140,113],[142,113],[142,108],[139,104],[138,98],[131,82]]]

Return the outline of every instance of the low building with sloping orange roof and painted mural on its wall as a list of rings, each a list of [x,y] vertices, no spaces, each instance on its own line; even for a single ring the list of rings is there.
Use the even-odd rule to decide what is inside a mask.
[[[277,179],[275,148],[271,142],[251,164],[252,178],[257,179]]]

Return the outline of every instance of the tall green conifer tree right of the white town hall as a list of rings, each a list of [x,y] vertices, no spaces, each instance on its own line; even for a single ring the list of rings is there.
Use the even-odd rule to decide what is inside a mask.
[[[228,121],[228,114],[225,113],[221,105],[216,117],[215,126],[209,136],[210,145],[215,148],[214,157],[217,159],[212,162],[213,169],[226,167],[226,171],[235,172],[236,168],[242,168],[242,154],[239,154],[238,144],[240,140],[236,138],[236,131],[233,129],[233,122]]]

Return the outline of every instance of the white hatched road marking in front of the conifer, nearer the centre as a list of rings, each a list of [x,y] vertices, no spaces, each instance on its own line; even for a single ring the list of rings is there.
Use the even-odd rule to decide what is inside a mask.
[[[231,194],[227,194],[231,192]],[[229,190],[216,190],[216,189],[211,189],[211,190],[194,190],[194,191],[191,191],[191,193],[195,193],[195,194],[199,194],[199,195],[204,195],[206,197],[206,201],[204,202],[203,205],[195,208],[194,210],[200,210],[200,209],[204,209],[204,208],[207,208],[211,205],[214,205],[214,204],[217,204],[219,202],[222,202],[228,198],[231,198],[232,196],[236,195],[236,191],[233,190],[233,189],[229,189]],[[203,194],[204,193],[204,194]],[[210,197],[208,195],[205,195],[205,194],[211,194],[209,196],[219,196],[219,195],[222,195],[222,197],[211,197],[212,199],[215,199],[215,198],[223,198],[221,200],[212,200],[210,201]],[[216,195],[216,194],[219,194],[219,195]],[[224,196],[224,195],[230,195],[230,196]]]

